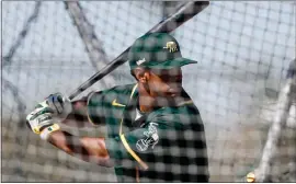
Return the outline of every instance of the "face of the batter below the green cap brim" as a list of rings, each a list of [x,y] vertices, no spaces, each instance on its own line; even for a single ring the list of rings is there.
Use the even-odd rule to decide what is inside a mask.
[[[179,96],[182,91],[182,70],[181,68],[151,69],[148,84],[155,96]]]

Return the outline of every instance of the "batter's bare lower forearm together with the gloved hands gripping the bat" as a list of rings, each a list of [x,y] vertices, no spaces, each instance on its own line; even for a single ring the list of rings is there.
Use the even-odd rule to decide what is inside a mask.
[[[54,122],[62,117],[77,116],[73,112],[83,111],[84,104],[79,104],[79,108],[72,111],[71,104],[61,94],[49,95],[44,102],[39,103],[36,108],[27,115],[27,123],[31,129],[60,150],[78,157],[88,162],[94,162],[103,166],[112,166],[104,138],[77,137],[67,131],[60,130],[58,124]],[[58,103],[57,103],[58,102]],[[79,103],[83,103],[80,101]],[[73,106],[77,102],[73,103]],[[71,110],[71,111],[69,111]],[[72,114],[72,115],[71,115]],[[82,116],[82,115],[81,115]],[[79,118],[82,118],[79,116]],[[73,119],[62,119],[62,122],[78,122]],[[81,119],[79,119],[81,120]]]

